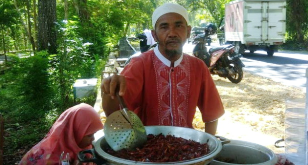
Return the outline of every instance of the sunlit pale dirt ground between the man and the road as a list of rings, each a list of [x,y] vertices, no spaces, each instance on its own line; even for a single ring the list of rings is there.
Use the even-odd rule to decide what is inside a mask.
[[[284,153],[284,148],[276,148],[274,144],[284,138],[285,101],[289,97],[305,98],[305,91],[248,72],[244,72],[243,80],[237,84],[216,75],[212,78],[225,107],[216,135],[257,143],[275,153]],[[196,129],[204,130],[198,111],[194,123]]]

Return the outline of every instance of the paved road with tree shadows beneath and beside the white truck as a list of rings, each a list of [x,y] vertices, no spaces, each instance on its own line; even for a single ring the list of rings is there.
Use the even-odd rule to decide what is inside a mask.
[[[211,45],[217,46],[217,43]],[[183,51],[189,54],[193,49],[194,45],[191,43],[186,43],[183,47]],[[265,51],[246,52],[241,58],[245,64],[245,71],[306,90],[305,73],[308,68],[308,53],[277,52],[273,57],[268,57]]]

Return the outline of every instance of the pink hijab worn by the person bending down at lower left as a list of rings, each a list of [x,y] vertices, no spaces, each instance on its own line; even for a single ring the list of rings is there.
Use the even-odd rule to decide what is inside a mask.
[[[24,155],[19,165],[59,165],[61,153],[67,152],[70,162],[85,149],[78,144],[84,136],[103,129],[100,115],[88,104],[81,103],[64,111],[43,140]],[[88,146],[86,149],[90,149]]]

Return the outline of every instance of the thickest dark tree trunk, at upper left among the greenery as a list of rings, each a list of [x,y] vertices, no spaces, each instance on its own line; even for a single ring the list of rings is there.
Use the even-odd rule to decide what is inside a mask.
[[[38,38],[39,51],[48,50],[50,54],[57,53],[56,35],[56,0],[38,0]]]

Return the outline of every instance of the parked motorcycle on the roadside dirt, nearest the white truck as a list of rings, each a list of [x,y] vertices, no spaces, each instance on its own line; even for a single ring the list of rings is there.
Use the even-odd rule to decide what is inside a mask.
[[[207,51],[205,44],[208,34],[210,33],[200,35],[193,40],[193,44],[196,44],[193,50],[194,56],[205,62],[212,75],[227,78],[232,83],[241,82],[242,68],[245,67],[240,60],[242,55],[235,53],[234,44],[213,47]]]

